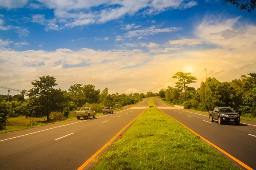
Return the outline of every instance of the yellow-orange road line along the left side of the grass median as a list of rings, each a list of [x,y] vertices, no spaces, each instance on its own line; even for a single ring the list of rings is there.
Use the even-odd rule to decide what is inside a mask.
[[[149,103],[148,103],[149,105]],[[96,153],[93,154],[93,156],[91,156],[86,162],[84,162],[84,164],[82,164],[77,170],[82,170],[84,169],[84,167],[87,166],[87,164],[89,164],[99,153],[102,152],[102,150],[104,150],[109,144],[111,144],[111,142],[113,142],[114,139],[116,139],[116,137],[122,133],[123,130],[125,130],[126,127],[128,127],[129,125],[131,125],[132,122],[134,122],[138,117],[140,117],[146,110],[147,108],[144,109],[144,111],[142,113],[139,114],[139,116],[137,116],[135,119],[133,119],[130,123],[128,123],[124,128],[122,128],[122,130],[120,130],[118,133],[116,133],[116,135],[110,139],[110,141],[108,141],[102,148],[100,148]]]

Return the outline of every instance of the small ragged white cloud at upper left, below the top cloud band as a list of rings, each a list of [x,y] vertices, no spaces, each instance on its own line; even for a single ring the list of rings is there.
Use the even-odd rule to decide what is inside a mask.
[[[56,24],[56,20],[55,19],[46,20],[45,17],[44,17],[44,14],[32,15],[32,22],[44,25],[45,26],[45,28],[44,28],[45,31],[49,31],[49,30],[58,31],[58,30],[60,30],[59,26]]]

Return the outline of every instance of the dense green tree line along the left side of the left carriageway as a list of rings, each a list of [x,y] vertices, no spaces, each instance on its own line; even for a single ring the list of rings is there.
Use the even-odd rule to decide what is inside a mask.
[[[32,85],[29,91],[10,95],[9,101],[8,95],[0,95],[0,130],[5,128],[9,117],[46,117],[49,121],[56,116],[67,118],[81,107],[92,107],[100,112],[105,106],[120,108],[142,101],[145,97],[159,95],[151,91],[146,94],[109,94],[108,88],[100,91],[90,84],[74,84],[64,91],[55,88],[58,85],[56,79],[49,75],[34,80]],[[28,99],[25,99],[25,95]]]

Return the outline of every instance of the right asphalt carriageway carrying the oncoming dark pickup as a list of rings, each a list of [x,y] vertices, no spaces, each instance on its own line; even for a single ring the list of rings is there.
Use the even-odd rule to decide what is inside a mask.
[[[154,102],[164,113],[256,170],[256,122],[218,125],[209,122],[207,114],[170,107],[156,98]]]

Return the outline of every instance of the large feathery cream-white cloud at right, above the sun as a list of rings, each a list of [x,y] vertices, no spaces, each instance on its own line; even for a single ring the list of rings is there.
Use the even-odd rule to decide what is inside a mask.
[[[230,48],[251,48],[256,42],[256,27],[239,21],[241,17],[206,15],[195,34],[207,43]]]

